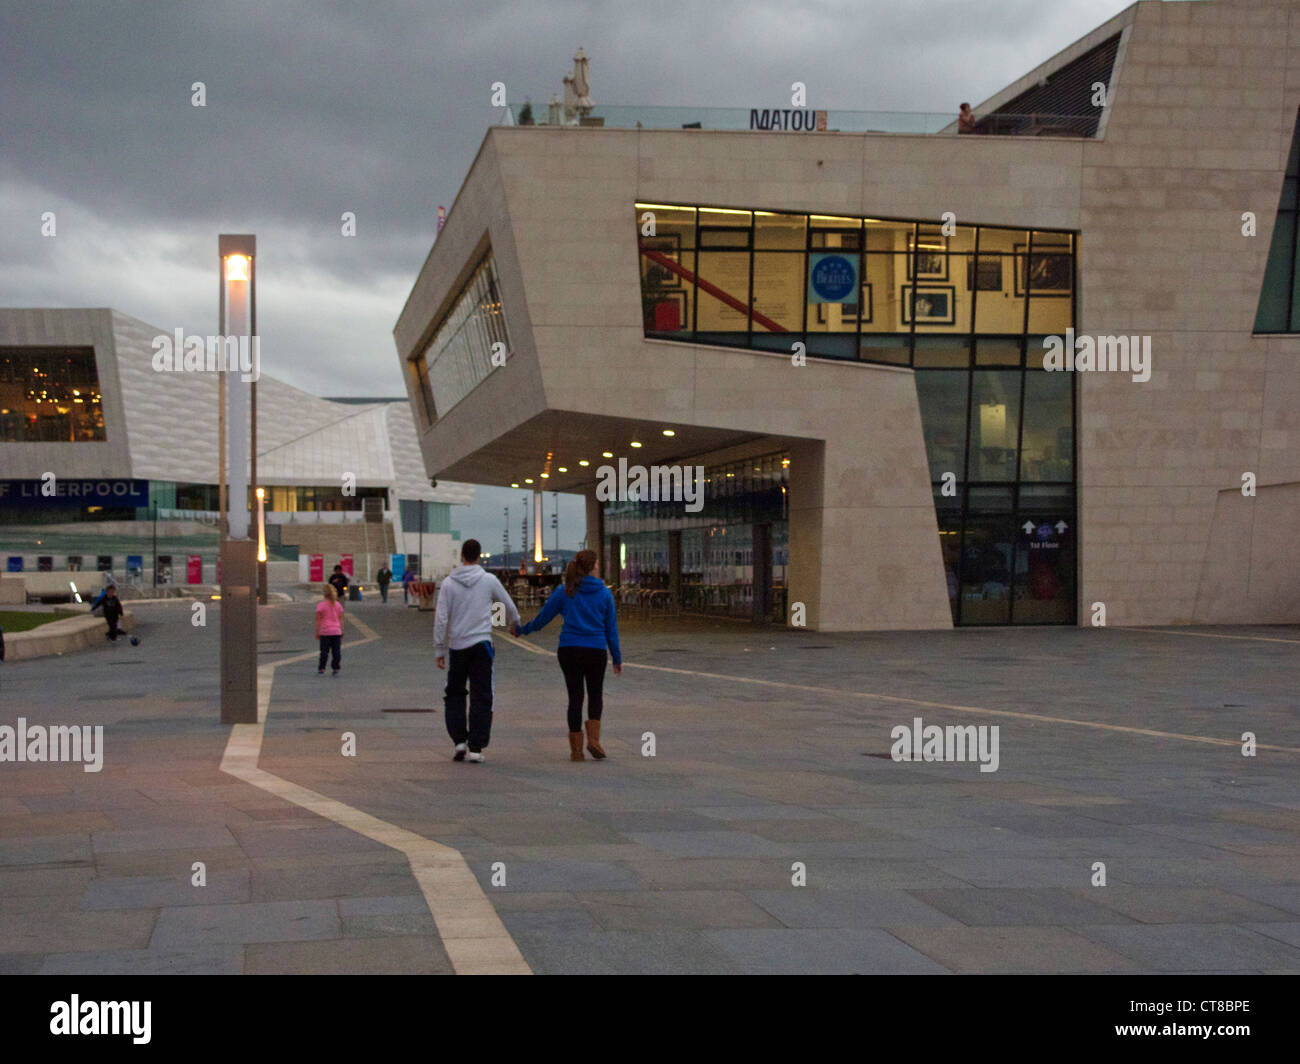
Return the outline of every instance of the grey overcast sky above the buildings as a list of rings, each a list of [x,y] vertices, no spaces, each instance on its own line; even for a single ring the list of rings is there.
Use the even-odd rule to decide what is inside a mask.
[[[264,371],[321,395],[400,395],[393,325],[500,113],[493,82],[545,109],[581,46],[598,108],[788,107],[802,81],[811,108],[952,112],[1127,5],[6,0],[0,303],[205,334],[217,234],[255,233]],[[480,494],[499,542],[504,503]],[[581,507],[564,510],[576,545]]]

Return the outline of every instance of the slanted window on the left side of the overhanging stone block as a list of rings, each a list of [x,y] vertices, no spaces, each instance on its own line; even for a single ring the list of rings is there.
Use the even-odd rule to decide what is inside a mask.
[[[474,390],[493,371],[493,346],[510,334],[500,303],[497,263],[489,252],[452,300],[433,338],[412,360],[425,416],[434,421]]]

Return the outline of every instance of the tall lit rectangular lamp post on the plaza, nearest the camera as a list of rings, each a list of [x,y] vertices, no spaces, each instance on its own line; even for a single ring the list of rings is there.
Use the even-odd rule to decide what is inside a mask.
[[[257,303],[251,234],[217,238],[220,294],[220,425],[222,445],[221,528],[221,723],[257,723],[257,540],[248,535],[250,464],[256,479],[257,423],[252,394],[256,373]],[[260,363],[260,359],[257,360]],[[243,369],[244,372],[240,372]]]

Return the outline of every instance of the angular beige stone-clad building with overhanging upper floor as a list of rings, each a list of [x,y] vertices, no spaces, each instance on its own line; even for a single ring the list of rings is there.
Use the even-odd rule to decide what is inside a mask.
[[[395,328],[425,467],[686,609],[1294,622],[1297,112],[1300,3],[1147,0],[966,135],[494,127]]]

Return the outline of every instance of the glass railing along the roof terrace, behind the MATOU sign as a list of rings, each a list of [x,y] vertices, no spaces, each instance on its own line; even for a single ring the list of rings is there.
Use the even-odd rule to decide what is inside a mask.
[[[498,125],[519,125],[523,107],[498,109]],[[975,133],[1002,137],[1095,137],[1100,111],[1091,114],[975,114]],[[835,111],[740,107],[597,107],[577,122],[549,122],[534,107],[524,125],[603,126],[607,129],[712,129],[783,133],[923,133],[957,135],[957,114],[924,111]]]

